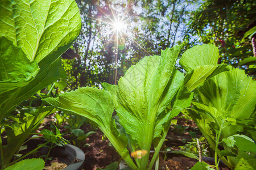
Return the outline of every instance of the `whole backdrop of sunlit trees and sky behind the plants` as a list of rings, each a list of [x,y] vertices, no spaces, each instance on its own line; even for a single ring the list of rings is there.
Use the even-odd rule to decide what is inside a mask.
[[[185,50],[203,43],[219,48],[218,63],[255,76],[252,37],[244,37],[255,26],[252,0],[76,2],[83,25],[72,46],[73,59],[63,59],[69,89],[115,83],[117,35],[109,23],[122,17],[127,28],[118,37],[117,80],[144,56],[159,55],[161,49],[176,44],[183,44]]]

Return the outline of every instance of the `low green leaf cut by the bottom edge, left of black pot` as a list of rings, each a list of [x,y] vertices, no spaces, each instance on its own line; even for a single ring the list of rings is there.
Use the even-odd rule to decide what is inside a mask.
[[[25,159],[18,163],[5,168],[5,170],[19,170],[19,169],[30,169],[30,170],[40,170],[44,168],[43,159]]]

